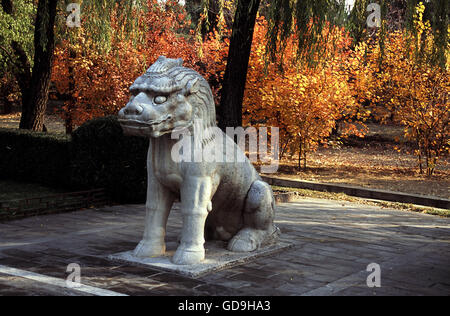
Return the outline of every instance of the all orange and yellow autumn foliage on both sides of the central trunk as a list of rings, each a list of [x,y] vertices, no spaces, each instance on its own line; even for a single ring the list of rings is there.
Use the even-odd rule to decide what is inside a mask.
[[[76,40],[65,40],[55,50],[52,80],[63,96],[59,114],[66,124],[81,125],[95,117],[116,114],[128,99],[128,87],[160,56],[183,58],[210,83],[218,104],[221,79],[231,30],[221,24],[206,39],[191,30],[184,8],[176,0],[161,7],[148,0],[149,7],[137,20],[139,32],[120,36],[120,18],[111,22],[117,36],[111,49],[99,53],[90,34],[77,30]],[[421,17],[420,17],[421,19]],[[429,25],[417,18],[421,38],[409,42],[427,48]],[[351,49],[351,38],[340,28],[324,27],[320,43],[323,54],[312,56],[313,67],[296,58],[296,35],[286,42],[283,56],[266,63],[268,26],[259,17],[255,26],[243,103],[246,125],[280,129],[281,154],[290,147],[306,166],[307,153],[327,144],[339,127],[343,136],[363,136],[364,121],[393,121],[405,127],[405,135],[416,142],[422,169],[432,174],[438,158],[447,154],[449,142],[448,67],[442,70],[417,62],[410,54],[402,32],[387,34],[384,56],[380,47],[368,41]],[[280,70],[280,66],[283,71]]]

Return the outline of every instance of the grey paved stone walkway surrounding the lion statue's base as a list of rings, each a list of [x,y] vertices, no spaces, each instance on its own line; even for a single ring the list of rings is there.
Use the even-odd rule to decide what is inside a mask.
[[[143,205],[128,205],[0,224],[0,295],[89,295],[30,278],[64,281],[70,263],[83,284],[128,295],[450,295],[449,219],[328,200],[280,204],[276,223],[293,248],[198,279],[107,260],[135,247],[143,219]],[[175,206],[168,241],[180,227]],[[371,263],[380,288],[366,284]]]

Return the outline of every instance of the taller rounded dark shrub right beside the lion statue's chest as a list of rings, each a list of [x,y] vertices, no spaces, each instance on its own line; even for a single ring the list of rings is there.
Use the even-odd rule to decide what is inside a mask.
[[[88,121],[72,135],[72,185],[105,188],[117,202],[144,202],[147,149],[148,140],[124,136],[114,116]]]

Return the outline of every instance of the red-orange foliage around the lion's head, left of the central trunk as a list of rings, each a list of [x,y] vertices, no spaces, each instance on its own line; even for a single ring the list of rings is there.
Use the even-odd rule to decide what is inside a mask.
[[[196,41],[192,31],[182,32],[190,21],[176,1],[164,7],[157,0],[148,1],[150,9],[137,22],[138,30],[145,31],[134,38],[121,36],[120,19],[111,16],[116,36],[108,52],[99,52],[83,28],[76,30],[75,44],[65,40],[57,46],[52,81],[66,100],[58,113],[67,124],[79,126],[95,117],[117,114],[128,102],[130,85],[161,55],[183,58],[186,67],[196,69],[211,83],[217,99],[227,41],[217,33],[204,42]],[[138,37],[143,40],[137,41]]]

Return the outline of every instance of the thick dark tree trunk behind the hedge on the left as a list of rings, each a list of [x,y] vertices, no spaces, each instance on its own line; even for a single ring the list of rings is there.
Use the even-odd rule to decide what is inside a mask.
[[[57,0],[39,0],[34,31],[34,66],[27,93],[22,95],[19,127],[41,131],[47,108],[55,48],[54,25]]]

